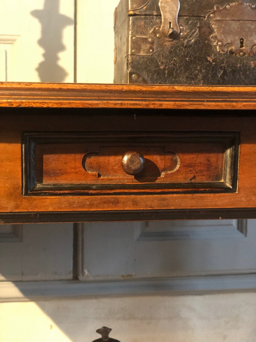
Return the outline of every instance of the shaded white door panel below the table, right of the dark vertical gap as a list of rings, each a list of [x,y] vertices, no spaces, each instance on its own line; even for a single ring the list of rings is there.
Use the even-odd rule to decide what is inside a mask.
[[[80,227],[83,280],[256,272],[256,220],[91,223]]]

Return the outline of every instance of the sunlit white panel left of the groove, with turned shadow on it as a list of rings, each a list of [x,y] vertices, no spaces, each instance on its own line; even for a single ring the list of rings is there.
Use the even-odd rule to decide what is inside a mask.
[[[74,81],[73,0],[1,0],[0,81]]]

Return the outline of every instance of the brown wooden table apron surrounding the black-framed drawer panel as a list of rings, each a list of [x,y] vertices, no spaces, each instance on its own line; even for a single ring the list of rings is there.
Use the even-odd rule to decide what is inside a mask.
[[[239,132],[238,191],[229,194],[167,194],[129,196],[23,196],[22,149],[24,131],[212,131]],[[97,115],[1,115],[0,212],[95,211],[199,208],[254,208],[256,201],[256,119],[240,117],[175,117]],[[208,151],[208,153],[211,153]],[[197,167],[197,165],[195,166]]]

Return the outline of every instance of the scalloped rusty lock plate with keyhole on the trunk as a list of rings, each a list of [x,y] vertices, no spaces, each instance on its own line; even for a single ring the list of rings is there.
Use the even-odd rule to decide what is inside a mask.
[[[256,54],[256,5],[243,2],[215,5],[207,16],[214,33],[211,40],[217,51],[231,55]]]

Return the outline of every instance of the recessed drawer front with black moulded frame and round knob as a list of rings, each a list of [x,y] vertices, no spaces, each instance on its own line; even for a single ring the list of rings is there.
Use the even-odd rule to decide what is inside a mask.
[[[22,147],[23,196],[237,192],[237,132],[25,132]]]

